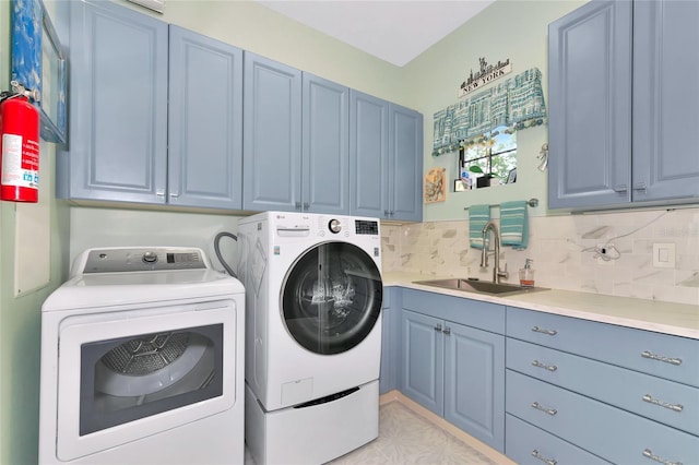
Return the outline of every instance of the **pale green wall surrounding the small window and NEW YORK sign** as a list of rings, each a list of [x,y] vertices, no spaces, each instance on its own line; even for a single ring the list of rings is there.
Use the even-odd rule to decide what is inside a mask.
[[[405,69],[410,88],[406,105],[420,111],[425,121],[424,170],[447,168],[449,192],[447,201],[427,204],[423,220],[460,219],[466,217],[464,206],[472,204],[499,204],[508,200],[537,198],[540,206],[530,208],[532,215],[545,215],[547,172],[536,169],[536,156],[548,140],[544,127],[518,132],[518,182],[467,192],[453,191],[458,178],[457,152],[431,156],[433,116],[436,111],[459,102],[458,90],[471,70],[478,69],[478,58],[489,63],[510,59],[512,78],[530,68],[538,68],[543,74],[544,95],[547,90],[548,24],[580,7],[584,1],[522,1],[498,0],[476,17],[461,26],[445,39],[430,47],[410,62]],[[497,215],[497,212],[494,212]]]

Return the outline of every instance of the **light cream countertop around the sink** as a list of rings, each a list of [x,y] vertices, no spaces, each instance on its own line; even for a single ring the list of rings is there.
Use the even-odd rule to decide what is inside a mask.
[[[384,286],[428,290],[448,296],[464,297],[699,339],[699,306],[559,289],[498,297],[414,283],[415,281],[440,279],[453,276],[426,276],[389,272],[383,273],[382,277]]]

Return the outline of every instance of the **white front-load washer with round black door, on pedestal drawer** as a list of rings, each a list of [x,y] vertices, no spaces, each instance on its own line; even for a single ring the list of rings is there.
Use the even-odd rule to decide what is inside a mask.
[[[266,212],[240,220],[238,243],[256,462],[323,463],[377,438],[379,220]]]

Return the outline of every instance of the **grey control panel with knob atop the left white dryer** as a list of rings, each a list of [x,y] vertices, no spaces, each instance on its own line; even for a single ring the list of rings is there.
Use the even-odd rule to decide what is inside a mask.
[[[197,270],[208,264],[201,249],[154,247],[90,249],[78,257],[73,267],[76,273],[120,273]]]

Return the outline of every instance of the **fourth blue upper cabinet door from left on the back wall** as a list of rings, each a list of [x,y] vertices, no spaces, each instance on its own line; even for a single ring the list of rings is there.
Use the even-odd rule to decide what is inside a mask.
[[[350,214],[350,88],[304,73],[303,210]]]

